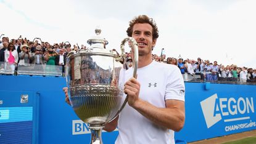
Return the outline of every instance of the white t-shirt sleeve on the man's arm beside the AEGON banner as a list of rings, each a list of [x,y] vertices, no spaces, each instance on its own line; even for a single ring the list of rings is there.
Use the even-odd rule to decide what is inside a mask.
[[[178,67],[173,67],[167,77],[167,87],[165,90],[165,100],[185,101],[184,80]]]

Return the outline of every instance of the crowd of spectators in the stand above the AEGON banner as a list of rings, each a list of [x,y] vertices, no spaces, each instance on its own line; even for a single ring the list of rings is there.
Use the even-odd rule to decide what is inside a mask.
[[[256,82],[256,69],[246,68],[245,66],[218,65],[217,61],[212,63],[201,58],[183,60],[181,56],[166,58],[165,55],[152,55],[152,59],[178,66],[181,74],[183,74],[184,81]]]

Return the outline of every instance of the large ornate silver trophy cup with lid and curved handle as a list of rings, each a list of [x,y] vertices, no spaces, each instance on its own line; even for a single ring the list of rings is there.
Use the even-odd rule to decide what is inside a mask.
[[[68,95],[77,116],[91,130],[91,143],[102,143],[105,124],[115,119],[127,102],[123,94],[126,73],[125,43],[133,52],[133,77],[138,68],[138,44],[133,38],[123,39],[122,54],[105,49],[108,42],[101,38],[101,29],[89,39],[88,49],[71,51],[67,55],[65,76]]]

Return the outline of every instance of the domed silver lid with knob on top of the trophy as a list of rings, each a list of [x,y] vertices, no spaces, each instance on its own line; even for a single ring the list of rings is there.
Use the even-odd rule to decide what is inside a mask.
[[[91,46],[91,48],[100,48],[105,49],[105,45],[109,44],[109,42],[100,36],[101,34],[101,28],[99,26],[95,29],[96,36],[93,36],[93,38],[88,39],[87,43]]]

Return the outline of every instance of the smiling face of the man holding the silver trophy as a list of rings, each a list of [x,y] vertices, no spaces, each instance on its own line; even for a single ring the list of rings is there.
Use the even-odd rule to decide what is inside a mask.
[[[152,26],[148,23],[136,23],[132,37],[138,42],[139,55],[150,55],[156,39],[153,40]]]

